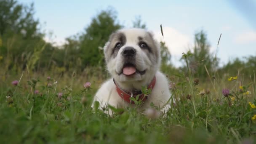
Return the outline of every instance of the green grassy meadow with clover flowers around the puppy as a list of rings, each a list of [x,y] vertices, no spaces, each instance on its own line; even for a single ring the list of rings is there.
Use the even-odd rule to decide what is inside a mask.
[[[3,75],[0,143],[233,144],[256,141],[256,123],[252,120],[256,108],[249,104],[256,104],[254,80],[245,82],[239,76],[232,81],[228,81],[228,77],[216,78],[214,91],[210,82],[197,83],[192,75],[170,75],[176,104],[172,104],[165,117],[151,115],[149,118],[136,109],[112,107],[109,109],[115,115],[109,117],[91,108],[93,94],[106,78],[103,75],[28,71],[21,72],[19,77]],[[51,79],[47,80],[47,76]],[[12,85],[13,80],[20,82]],[[91,88],[83,87],[87,81],[91,82]],[[241,85],[243,90],[239,88]],[[222,94],[224,88],[229,89],[227,97]]]

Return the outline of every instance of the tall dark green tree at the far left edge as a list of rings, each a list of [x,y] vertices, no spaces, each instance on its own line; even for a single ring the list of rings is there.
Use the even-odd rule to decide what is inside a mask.
[[[34,7],[16,0],[0,1],[0,56],[5,69],[33,69],[47,45],[39,32],[39,21],[33,18]]]

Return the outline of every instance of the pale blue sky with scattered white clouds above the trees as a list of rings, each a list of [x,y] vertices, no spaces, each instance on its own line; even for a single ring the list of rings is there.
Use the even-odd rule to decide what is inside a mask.
[[[34,3],[35,18],[48,35],[45,40],[61,45],[65,38],[84,32],[100,11],[115,8],[117,20],[132,27],[141,16],[147,29],[168,46],[172,63],[181,66],[183,52],[193,47],[194,35],[207,33],[210,51],[217,52],[220,66],[236,57],[256,56],[256,0],[18,0]],[[52,35],[50,35],[50,33]]]

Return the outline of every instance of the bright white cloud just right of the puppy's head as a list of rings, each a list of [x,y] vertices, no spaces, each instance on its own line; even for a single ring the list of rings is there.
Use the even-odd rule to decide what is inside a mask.
[[[154,31],[155,38],[158,41],[163,41],[161,31]],[[192,44],[192,39],[189,36],[182,34],[171,27],[163,27],[163,35],[165,45],[169,48],[171,55],[181,56],[182,52],[188,51],[188,45]]]

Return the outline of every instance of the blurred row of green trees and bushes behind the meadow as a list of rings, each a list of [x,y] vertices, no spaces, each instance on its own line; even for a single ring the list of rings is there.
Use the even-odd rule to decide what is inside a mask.
[[[43,39],[45,34],[41,32],[39,20],[34,18],[33,4],[1,0],[0,9],[0,69],[5,73],[24,69],[37,72],[83,72],[88,67],[104,70],[102,47],[113,31],[125,27],[118,22],[117,13],[107,9],[93,17],[82,33],[68,37],[67,43],[55,47]],[[146,29],[146,24],[137,17],[133,21],[133,27]],[[210,75],[216,71],[219,75],[237,75],[238,71],[247,76],[253,75],[256,56],[249,56],[243,61],[237,58],[218,68],[219,59],[214,57],[214,53],[210,53],[209,48],[206,33],[203,30],[196,33],[195,45],[190,48],[188,65],[197,77],[207,77],[205,67]],[[184,59],[181,59],[184,67],[173,67],[169,61],[171,54],[166,49],[161,42],[162,70],[166,73],[185,71],[187,66]]]

